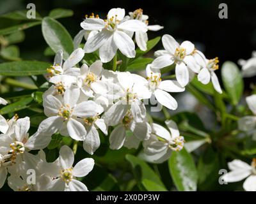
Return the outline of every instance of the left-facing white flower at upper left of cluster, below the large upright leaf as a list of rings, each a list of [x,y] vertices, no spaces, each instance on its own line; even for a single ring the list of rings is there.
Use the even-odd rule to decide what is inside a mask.
[[[68,59],[62,64],[63,52],[59,50],[54,58],[54,64],[47,69],[49,73],[49,82],[52,84],[67,83],[72,84],[76,82],[76,76],[79,75],[80,69],[74,66],[84,57],[82,48],[77,48],[70,54]]]

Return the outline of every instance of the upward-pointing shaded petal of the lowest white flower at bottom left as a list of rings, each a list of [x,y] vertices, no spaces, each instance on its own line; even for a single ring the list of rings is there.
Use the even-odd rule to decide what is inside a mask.
[[[63,170],[72,168],[74,163],[74,153],[72,152],[72,149],[70,149],[70,147],[67,145],[62,146],[60,149],[59,159]]]

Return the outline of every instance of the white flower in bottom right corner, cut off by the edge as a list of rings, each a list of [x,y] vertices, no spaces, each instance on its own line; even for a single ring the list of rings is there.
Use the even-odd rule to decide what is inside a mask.
[[[228,163],[228,168],[231,171],[221,177],[225,182],[238,182],[247,178],[243,184],[244,190],[256,191],[256,159],[253,159],[251,166],[239,159],[234,159]]]

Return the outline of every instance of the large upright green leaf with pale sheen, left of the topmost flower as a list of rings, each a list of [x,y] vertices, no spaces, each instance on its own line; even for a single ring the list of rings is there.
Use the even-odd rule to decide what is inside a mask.
[[[57,20],[45,17],[42,22],[42,33],[47,44],[56,53],[63,51],[63,59],[67,59],[74,49],[73,41],[63,25]]]

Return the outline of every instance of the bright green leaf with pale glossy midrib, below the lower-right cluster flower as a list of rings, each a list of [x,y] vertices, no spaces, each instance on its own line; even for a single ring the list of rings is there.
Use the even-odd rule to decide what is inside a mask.
[[[193,158],[186,149],[173,151],[168,165],[173,182],[179,191],[196,191],[198,175]]]

